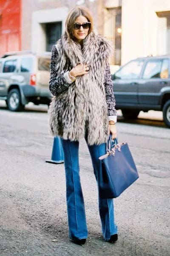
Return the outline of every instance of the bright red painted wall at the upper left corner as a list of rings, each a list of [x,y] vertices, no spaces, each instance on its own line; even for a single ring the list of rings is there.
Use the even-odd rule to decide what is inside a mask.
[[[0,55],[21,49],[21,0],[0,0]]]

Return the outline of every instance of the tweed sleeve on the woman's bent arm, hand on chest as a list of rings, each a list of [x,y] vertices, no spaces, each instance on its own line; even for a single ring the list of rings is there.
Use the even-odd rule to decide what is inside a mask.
[[[55,70],[56,59],[58,57],[58,51],[56,46],[54,45],[51,50],[51,63],[50,63],[50,82],[49,82],[49,90],[51,93],[56,96],[62,93],[64,90],[67,90],[70,86],[70,83],[66,81],[64,74],[57,74]]]

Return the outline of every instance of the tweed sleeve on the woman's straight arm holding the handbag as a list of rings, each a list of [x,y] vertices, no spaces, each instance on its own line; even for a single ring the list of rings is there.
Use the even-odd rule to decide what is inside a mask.
[[[111,80],[111,70],[109,64],[107,64],[105,70],[105,96],[108,105],[108,116],[117,116],[115,109],[116,102],[113,94],[113,83]]]

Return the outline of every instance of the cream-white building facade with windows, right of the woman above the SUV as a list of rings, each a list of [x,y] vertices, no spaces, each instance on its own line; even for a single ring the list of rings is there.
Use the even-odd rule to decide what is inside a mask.
[[[170,0],[103,0],[100,32],[112,42],[111,64],[170,54]]]

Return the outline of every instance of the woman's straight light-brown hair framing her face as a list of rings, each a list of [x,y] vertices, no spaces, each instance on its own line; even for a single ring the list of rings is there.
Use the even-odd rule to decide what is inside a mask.
[[[74,39],[74,23],[77,17],[84,16],[91,22],[91,27],[88,30],[88,34],[93,31],[93,18],[90,11],[84,7],[75,7],[68,13],[65,21],[65,30],[69,38]]]

